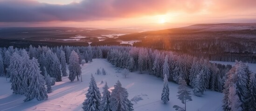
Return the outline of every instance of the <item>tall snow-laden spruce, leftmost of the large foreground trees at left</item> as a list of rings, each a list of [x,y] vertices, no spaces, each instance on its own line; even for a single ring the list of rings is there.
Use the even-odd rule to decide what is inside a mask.
[[[23,94],[24,91],[22,89],[22,77],[19,72],[19,68],[21,65],[21,56],[14,52],[10,59],[10,65],[7,70],[7,74],[10,75],[10,81],[12,82],[11,89],[15,94]]]

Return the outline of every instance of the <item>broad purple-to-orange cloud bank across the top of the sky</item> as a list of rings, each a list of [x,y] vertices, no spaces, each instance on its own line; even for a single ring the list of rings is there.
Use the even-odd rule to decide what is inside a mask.
[[[56,5],[36,0],[0,0],[0,22],[90,21],[167,12],[251,14],[256,0],[82,0]]]

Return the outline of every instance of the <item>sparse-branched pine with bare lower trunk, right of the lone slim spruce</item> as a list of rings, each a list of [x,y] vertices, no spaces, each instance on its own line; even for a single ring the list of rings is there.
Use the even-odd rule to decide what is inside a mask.
[[[178,99],[181,100],[181,103],[185,104],[185,111],[186,111],[186,102],[188,101],[192,101],[191,99],[191,93],[189,90],[187,90],[187,82],[186,80],[183,80],[182,78],[180,78],[179,80],[179,87],[178,87]]]

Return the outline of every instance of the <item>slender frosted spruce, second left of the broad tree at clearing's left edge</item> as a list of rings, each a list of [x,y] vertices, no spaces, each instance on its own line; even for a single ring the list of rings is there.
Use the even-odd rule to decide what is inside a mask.
[[[60,61],[56,54],[54,54],[53,57],[54,57],[54,62],[53,62],[53,67],[51,67],[54,74],[53,77],[55,78],[56,82],[59,82],[59,81],[62,81]]]

